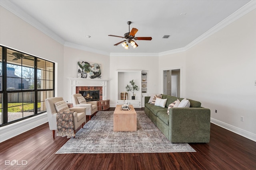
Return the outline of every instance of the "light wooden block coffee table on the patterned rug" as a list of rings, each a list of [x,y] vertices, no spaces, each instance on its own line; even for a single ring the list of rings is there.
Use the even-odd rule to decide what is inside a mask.
[[[131,110],[121,110],[122,105],[116,105],[114,111],[114,131],[137,131],[137,113],[132,105]]]

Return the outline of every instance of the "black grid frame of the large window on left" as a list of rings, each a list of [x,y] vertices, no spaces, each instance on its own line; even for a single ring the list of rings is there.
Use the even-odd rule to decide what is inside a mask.
[[[6,126],[6,125],[10,125],[12,123],[16,123],[18,121],[22,121],[24,119],[28,119],[30,117],[34,117],[36,115],[40,115],[42,113],[45,113],[46,112],[45,99],[48,98],[48,97],[54,97],[54,91],[55,91],[55,89],[54,89],[54,87],[55,87],[54,86],[54,84],[55,84],[55,63],[52,62],[52,61],[48,61],[46,59],[42,59],[42,58],[30,55],[30,54],[24,53],[22,51],[18,51],[16,49],[11,49],[9,47],[5,47],[3,45],[0,45],[0,48],[2,48],[2,54],[1,54],[2,55],[2,61],[0,61],[0,62],[2,62],[2,68],[1,68],[2,69],[2,82],[0,82],[0,84],[2,83],[2,90],[0,89],[0,94],[2,95],[2,99],[0,99],[2,101],[2,108],[0,108],[2,110],[2,122],[0,122],[0,127]],[[21,82],[20,85],[23,88],[16,89],[16,90],[8,90],[8,88],[7,88],[7,84],[8,84],[8,82],[7,82],[7,76],[8,76],[7,75],[7,64],[11,64],[11,63],[8,63],[8,61],[7,61],[7,55],[8,55],[7,51],[8,50],[15,51],[17,53],[22,53],[22,55],[24,54],[24,55],[29,55],[31,57],[34,57],[33,58],[34,61],[31,62],[31,63],[34,63],[34,65],[33,66],[30,65],[31,68],[34,69],[34,71],[32,71],[34,76],[33,76],[33,78],[30,77],[30,79],[32,81],[34,81],[34,83],[32,83],[32,85],[34,85],[34,87],[31,86],[28,89],[24,89],[24,84],[23,84],[23,82]],[[9,53],[9,55],[10,55],[10,53]],[[11,55],[13,55],[13,53]],[[21,60],[23,60],[25,58],[26,57],[24,57],[24,58],[22,57]],[[42,81],[42,79],[38,79],[38,75],[37,75],[38,74],[38,70],[39,70],[38,69],[38,62],[39,61],[44,61],[44,64],[43,64],[43,66],[44,66],[43,69],[44,70],[47,70],[48,67],[46,66],[46,64],[48,62],[50,62],[48,64],[50,64],[50,66],[52,66],[51,67],[52,71],[50,71],[50,72],[52,72],[52,84],[50,86],[46,86],[43,89],[42,88],[38,88],[38,84],[41,83],[41,81]],[[21,65],[20,66],[25,66],[26,67],[26,65],[22,64],[22,61],[21,61]],[[10,78],[10,77],[8,77],[8,78]],[[21,77],[20,78],[24,79],[23,75],[22,75],[22,72],[21,72]],[[28,79],[28,78],[25,78],[25,79]],[[26,112],[26,110],[23,111],[23,108],[24,108],[23,106],[28,105],[28,104],[23,102],[25,100],[24,100],[24,96],[22,95],[22,103],[21,103],[21,105],[22,105],[22,111],[21,111],[22,112],[22,117],[18,118],[18,119],[11,120],[11,121],[8,122],[8,94],[11,94],[11,93],[22,93],[22,94],[24,94],[26,92],[28,92],[28,94],[29,94],[29,92],[33,92],[32,93],[33,95],[32,96],[30,95],[30,98],[32,100],[34,99],[34,101],[32,101],[32,103],[34,104],[34,111],[32,111],[33,114],[32,115],[28,115],[28,116],[24,116],[24,112]],[[40,94],[40,92],[42,92],[42,94]],[[38,99],[38,93],[39,93],[39,95],[41,95],[41,97],[39,96],[40,99]],[[41,102],[40,108],[42,109],[42,111],[38,110],[38,103],[39,102]],[[43,104],[43,106],[42,106],[42,104]]]

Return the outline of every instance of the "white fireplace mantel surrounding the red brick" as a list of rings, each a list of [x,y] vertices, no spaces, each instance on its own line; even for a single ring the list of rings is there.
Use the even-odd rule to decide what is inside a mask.
[[[108,80],[102,79],[89,79],[89,78],[68,78],[70,80],[71,93],[76,94],[77,86],[101,86],[102,87],[102,100],[107,100],[107,82]],[[72,98],[70,97],[70,101]]]

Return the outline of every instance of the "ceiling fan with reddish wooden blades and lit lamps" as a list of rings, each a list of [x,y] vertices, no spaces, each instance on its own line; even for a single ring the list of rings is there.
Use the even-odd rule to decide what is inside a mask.
[[[127,22],[127,24],[129,25],[129,32],[125,33],[124,37],[117,36],[117,35],[108,35],[108,36],[112,36],[112,37],[120,37],[120,38],[126,39],[126,40],[120,41],[119,43],[116,43],[114,45],[118,45],[118,44],[122,43],[122,47],[124,47],[124,49],[129,49],[128,43],[130,43],[133,48],[138,47],[138,44],[134,40],[149,40],[149,41],[152,40],[152,37],[135,37],[135,34],[137,33],[138,29],[132,28],[132,30],[130,31],[131,23],[132,23],[131,21]]]

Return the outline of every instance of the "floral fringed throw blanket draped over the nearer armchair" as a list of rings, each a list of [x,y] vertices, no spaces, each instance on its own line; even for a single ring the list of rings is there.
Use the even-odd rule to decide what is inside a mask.
[[[57,113],[57,136],[67,136],[67,138],[75,137],[73,112],[74,111],[59,111]]]

